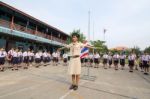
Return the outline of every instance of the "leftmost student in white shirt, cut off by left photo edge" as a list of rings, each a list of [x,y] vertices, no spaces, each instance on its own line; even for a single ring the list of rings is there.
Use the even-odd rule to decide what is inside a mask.
[[[4,71],[5,58],[7,53],[4,48],[0,48],[0,71]]]

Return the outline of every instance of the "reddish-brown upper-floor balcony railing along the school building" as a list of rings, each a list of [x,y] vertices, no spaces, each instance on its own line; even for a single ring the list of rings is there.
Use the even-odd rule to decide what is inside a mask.
[[[10,28],[11,27],[11,22],[3,20],[3,19],[0,19],[0,26]],[[54,40],[54,41],[58,41],[58,42],[66,44],[65,40],[59,39],[59,38],[57,38],[55,36],[51,36],[51,35],[42,33],[40,31],[36,31],[36,30],[32,30],[32,29],[26,28],[26,27],[21,26],[19,24],[15,24],[14,23],[14,29],[18,30],[18,31],[23,31],[23,32],[26,32],[26,33],[29,33],[29,34],[34,34],[34,35],[37,35],[37,36],[40,36],[40,37],[44,37],[44,38],[47,38],[47,39],[50,39],[50,40]]]

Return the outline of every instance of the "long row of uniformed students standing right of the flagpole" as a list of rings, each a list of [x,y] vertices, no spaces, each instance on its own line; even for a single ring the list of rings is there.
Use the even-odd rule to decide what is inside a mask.
[[[88,60],[89,59],[89,60]],[[100,57],[99,53],[90,53],[87,58],[81,59],[81,63],[86,63],[87,60],[89,62],[89,65],[92,66],[94,63],[94,67],[98,68],[100,60],[102,60],[102,64],[104,66],[104,69],[107,69],[108,67],[111,68],[112,65],[114,65],[114,69],[118,70],[119,66],[121,66],[121,70],[124,70],[124,67],[128,61],[129,66],[129,72],[133,72],[134,68],[135,70],[138,70],[137,66],[141,68],[141,72],[144,72],[145,75],[149,72],[149,66],[150,66],[150,55],[148,53],[143,53],[138,58],[137,55],[134,52],[130,52],[129,55],[125,55],[125,53],[104,53],[102,57]],[[86,60],[86,61],[84,61]]]

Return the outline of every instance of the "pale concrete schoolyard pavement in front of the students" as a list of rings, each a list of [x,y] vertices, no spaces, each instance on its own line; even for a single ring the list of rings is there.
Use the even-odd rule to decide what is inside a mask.
[[[86,74],[82,68],[82,75]],[[0,72],[0,99],[150,99],[150,76],[136,71],[92,68],[95,81],[81,79],[79,90],[68,90],[65,66],[31,67]]]

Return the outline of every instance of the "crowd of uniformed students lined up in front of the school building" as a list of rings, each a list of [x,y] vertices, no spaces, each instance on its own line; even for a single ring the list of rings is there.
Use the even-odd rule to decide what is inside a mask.
[[[12,65],[12,70],[18,70],[19,67],[28,69],[29,66],[36,64],[48,63],[52,59],[50,52],[38,51],[36,53],[33,50],[19,50],[18,48],[12,48],[8,52],[4,48],[0,48],[0,71],[4,71],[4,64],[8,61],[9,65]],[[37,66],[38,67],[38,66]]]

